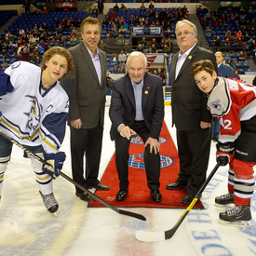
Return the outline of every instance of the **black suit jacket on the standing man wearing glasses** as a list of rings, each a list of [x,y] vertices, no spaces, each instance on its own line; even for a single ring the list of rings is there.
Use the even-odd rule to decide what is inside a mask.
[[[190,75],[191,66],[196,61],[210,60],[217,73],[216,57],[211,51],[195,46],[175,79],[178,55],[179,52],[173,57],[170,69],[172,126],[180,130],[195,130],[200,128],[201,121],[210,123],[211,115],[207,109],[207,95],[197,88]]]

